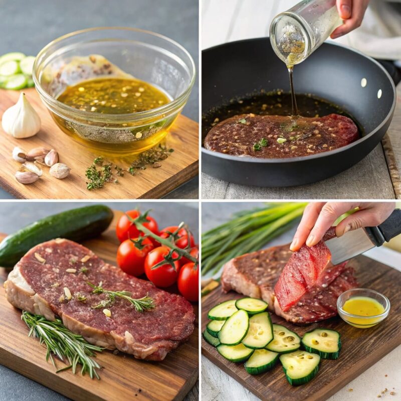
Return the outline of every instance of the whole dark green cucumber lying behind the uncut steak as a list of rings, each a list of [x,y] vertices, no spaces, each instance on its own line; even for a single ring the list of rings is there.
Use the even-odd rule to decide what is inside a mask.
[[[0,266],[14,265],[35,245],[55,238],[80,242],[109,227],[113,212],[104,205],[85,206],[45,217],[9,235],[0,243]]]

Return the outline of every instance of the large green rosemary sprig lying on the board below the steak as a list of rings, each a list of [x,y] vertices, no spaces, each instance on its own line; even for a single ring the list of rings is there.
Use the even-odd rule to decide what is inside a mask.
[[[56,368],[53,355],[64,363],[68,363],[68,366],[57,370],[56,373],[72,368],[75,374],[77,365],[80,364],[82,365],[81,374],[89,372],[92,379],[93,377],[100,379],[96,371],[96,369],[100,369],[100,366],[92,357],[96,356],[94,351],[101,352],[103,348],[89,344],[84,337],[68,330],[58,318],[50,321],[43,316],[23,311],[21,319],[30,329],[28,336],[37,337],[41,344],[46,345],[46,360],[50,358]]]

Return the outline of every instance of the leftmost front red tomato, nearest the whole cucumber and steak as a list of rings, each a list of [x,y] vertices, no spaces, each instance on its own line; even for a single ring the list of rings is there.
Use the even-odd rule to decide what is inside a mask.
[[[145,272],[146,255],[153,249],[153,244],[148,238],[143,239],[142,244],[145,247],[138,249],[131,240],[125,240],[117,250],[118,266],[125,273],[135,277],[139,277]]]

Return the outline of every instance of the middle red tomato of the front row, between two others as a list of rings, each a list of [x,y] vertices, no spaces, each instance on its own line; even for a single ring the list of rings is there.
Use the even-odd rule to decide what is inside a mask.
[[[179,272],[179,263],[175,261],[175,269],[168,263],[157,267],[152,270],[152,267],[164,260],[164,256],[167,256],[170,249],[164,246],[158,247],[150,251],[145,259],[145,274],[146,277],[156,287],[169,287],[177,281]],[[173,252],[173,258],[177,258],[178,254]]]

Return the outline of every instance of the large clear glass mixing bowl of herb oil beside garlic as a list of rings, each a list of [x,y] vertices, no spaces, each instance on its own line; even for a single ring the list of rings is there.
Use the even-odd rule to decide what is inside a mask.
[[[111,77],[110,65],[90,63],[103,58],[112,68],[160,89],[170,103],[129,114],[100,114],[57,100],[67,86]],[[162,35],[132,28],[92,28],[49,43],[35,60],[33,78],[43,103],[65,133],[100,154],[124,156],[143,152],[164,138],[189,97],[195,64],[182,46]]]

